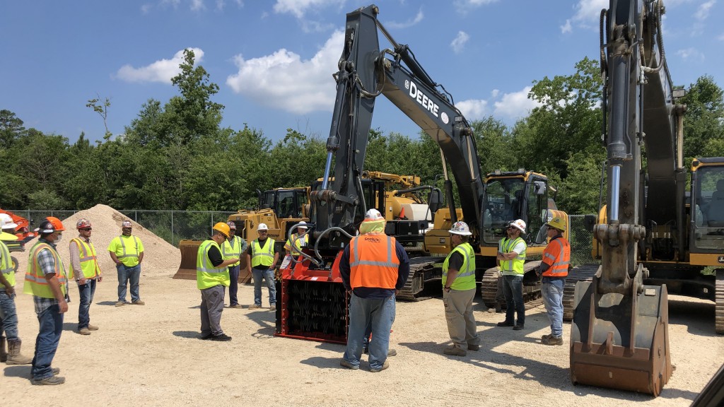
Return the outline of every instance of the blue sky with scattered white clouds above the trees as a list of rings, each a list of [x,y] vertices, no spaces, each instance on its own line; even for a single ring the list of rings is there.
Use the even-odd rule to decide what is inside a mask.
[[[4,1],[0,6],[0,109],[71,142],[98,140],[88,99],[110,98],[115,135],[149,98],[177,93],[182,51],[220,87],[222,125],[244,123],[271,140],[292,128],[326,140],[334,106],[345,0]],[[379,20],[442,83],[468,120],[508,125],[535,104],[533,80],[569,75],[598,58],[606,0],[379,0]],[[675,85],[712,75],[724,85],[724,0],[667,0],[664,43]],[[380,35],[381,46],[386,47]],[[414,136],[418,127],[384,98],[372,126]]]

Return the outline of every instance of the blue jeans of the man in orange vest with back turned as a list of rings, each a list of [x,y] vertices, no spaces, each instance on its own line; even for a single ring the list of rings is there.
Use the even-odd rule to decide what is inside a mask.
[[[362,343],[367,325],[371,322],[374,340],[369,343],[369,368],[382,369],[390,350],[390,328],[395,320],[395,295],[387,298],[350,297],[350,326],[347,332],[347,350],[342,356],[353,366],[359,366]]]

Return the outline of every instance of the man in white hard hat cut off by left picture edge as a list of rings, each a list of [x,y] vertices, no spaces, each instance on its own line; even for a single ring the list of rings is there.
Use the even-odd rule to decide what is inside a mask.
[[[15,270],[10,251],[3,242],[17,240],[12,232],[17,224],[9,214],[0,214],[0,362],[7,364],[30,364],[28,356],[20,354],[20,336],[17,332],[17,310],[15,308]],[[5,232],[8,230],[11,233]],[[4,335],[3,335],[4,334]],[[7,336],[7,349],[5,337]]]

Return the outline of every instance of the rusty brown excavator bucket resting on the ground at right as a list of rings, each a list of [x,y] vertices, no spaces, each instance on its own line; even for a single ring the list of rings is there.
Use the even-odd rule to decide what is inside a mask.
[[[634,285],[633,295],[596,288],[597,277],[576,284],[571,382],[656,397],[672,373],[666,285]]]

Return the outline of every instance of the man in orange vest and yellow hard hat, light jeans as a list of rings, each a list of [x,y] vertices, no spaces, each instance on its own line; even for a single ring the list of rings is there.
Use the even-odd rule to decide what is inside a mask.
[[[538,277],[543,277],[541,293],[550,319],[551,333],[541,337],[543,345],[563,345],[563,288],[571,264],[571,245],[563,238],[565,226],[565,220],[558,216],[546,224],[548,246],[536,268]]]

